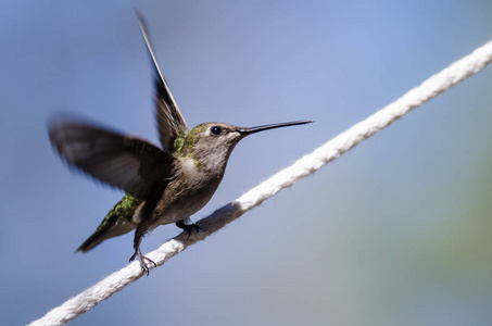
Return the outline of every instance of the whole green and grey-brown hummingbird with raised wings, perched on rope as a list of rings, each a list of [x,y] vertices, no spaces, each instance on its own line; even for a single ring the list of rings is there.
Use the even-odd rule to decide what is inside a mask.
[[[137,18],[154,68],[161,147],[78,118],[53,120],[48,124],[48,134],[54,150],[70,167],[126,192],[77,251],[87,252],[106,239],[135,230],[135,251],[129,261],[138,258],[142,272],[149,275],[150,266],[156,265],[140,251],[143,236],[172,223],[189,235],[200,231],[189,216],[210,201],[224,177],[230,153],[241,139],[312,121],[256,127],[210,122],[189,130],[138,12]]]

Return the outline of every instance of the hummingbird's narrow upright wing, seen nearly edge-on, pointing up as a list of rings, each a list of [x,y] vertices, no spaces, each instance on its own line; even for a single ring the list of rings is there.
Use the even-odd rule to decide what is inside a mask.
[[[179,111],[178,104],[174,100],[171,93],[169,87],[167,86],[166,79],[159,68],[157,61],[155,60],[154,51],[150,43],[149,36],[146,32],[146,23],[142,15],[136,11],[140,30],[146,41],[147,49],[152,59],[154,66],[154,79],[155,79],[155,115],[157,121],[157,130],[161,140],[162,148],[165,152],[172,153],[174,150],[174,140],[185,130],[188,130],[185,117]]]

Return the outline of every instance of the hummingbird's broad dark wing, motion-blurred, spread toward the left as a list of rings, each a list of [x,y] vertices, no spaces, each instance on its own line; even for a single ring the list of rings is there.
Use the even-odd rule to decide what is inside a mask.
[[[171,178],[175,159],[146,140],[78,121],[52,122],[48,131],[70,166],[138,199],[165,188]]]

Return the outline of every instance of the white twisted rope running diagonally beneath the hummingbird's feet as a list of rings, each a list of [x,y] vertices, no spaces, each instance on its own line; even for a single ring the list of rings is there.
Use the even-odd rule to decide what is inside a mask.
[[[393,103],[326,142],[311,154],[303,156],[291,166],[278,172],[237,200],[216,210],[212,215],[200,220],[197,224],[202,231],[192,235],[190,238],[185,233],[180,234],[162,244],[157,250],[147,254],[147,256],[157,265],[164,264],[165,261],[178,254],[188,246],[203,240],[247,211],[273,197],[281,189],[290,187],[297,180],[311,175],[319,167],[389,126],[393,121],[408,113],[414,108],[424,104],[457,83],[479,72],[491,61],[492,40],[440,73],[431,76],[420,86],[409,90]],[[63,325],[92,309],[102,300],[110,298],[127,285],[136,281],[142,275],[140,264],[138,262],[130,263],[86,289],[80,294],[48,312],[42,318],[33,322],[30,325]]]

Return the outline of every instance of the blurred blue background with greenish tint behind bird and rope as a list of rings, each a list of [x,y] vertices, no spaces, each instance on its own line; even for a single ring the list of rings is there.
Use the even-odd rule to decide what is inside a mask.
[[[241,142],[193,221],[492,37],[490,0],[3,3],[2,325],[133,253],[126,235],[74,254],[123,193],[70,173],[46,124],[67,111],[157,142],[134,7],[188,125],[316,121]],[[72,324],[491,325],[491,90],[489,67]]]

